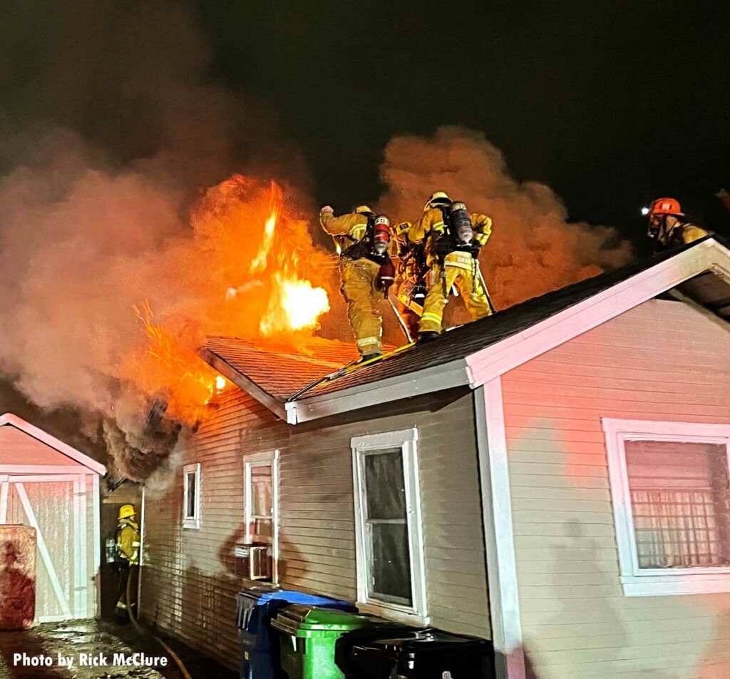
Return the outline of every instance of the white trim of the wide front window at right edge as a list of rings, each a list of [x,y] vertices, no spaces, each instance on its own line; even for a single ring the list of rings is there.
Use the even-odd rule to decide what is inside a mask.
[[[603,418],[613,515],[626,596],[711,594],[730,591],[730,567],[639,569],[626,470],[626,441],[679,441],[724,445],[730,465],[730,425]]]

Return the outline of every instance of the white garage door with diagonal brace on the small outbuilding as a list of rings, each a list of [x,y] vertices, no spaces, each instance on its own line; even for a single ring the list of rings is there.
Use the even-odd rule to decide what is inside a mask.
[[[0,485],[0,523],[24,523],[37,532],[36,619],[86,617],[85,476],[6,479]]]

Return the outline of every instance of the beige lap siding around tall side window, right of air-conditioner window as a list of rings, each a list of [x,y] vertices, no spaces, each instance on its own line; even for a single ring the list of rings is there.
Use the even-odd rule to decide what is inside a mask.
[[[419,437],[431,624],[490,637],[474,412],[468,393],[456,397],[445,392],[293,428],[280,464],[283,584],[356,598],[350,439],[413,426]]]

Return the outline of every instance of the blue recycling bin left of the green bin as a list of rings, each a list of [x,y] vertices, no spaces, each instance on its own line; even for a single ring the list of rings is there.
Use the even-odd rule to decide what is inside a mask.
[[[236,622],[241,643],[241,679],[285,679],[281,670],[277,634],[269,623],[291,604],[337,608],[355,613],[351,602],[329,596],[271,588],[252,588],[236,595]]]

